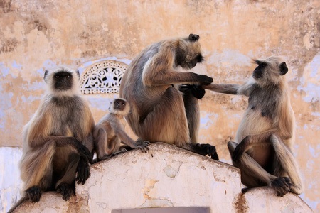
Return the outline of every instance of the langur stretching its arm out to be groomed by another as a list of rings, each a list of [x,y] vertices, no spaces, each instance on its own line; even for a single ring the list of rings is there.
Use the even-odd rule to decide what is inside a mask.
[[[203,88],[249,97],[235,142],[228,148],[233,165],[240,168],[247,187],[270,185],[278,196],[302,193],[302,178],[292,154],[294,111],[285,74],[286,62],[279,57],[255,60],[257,67],[244,84],[210,84]],[[244,190],[245,191],[245,190]]]

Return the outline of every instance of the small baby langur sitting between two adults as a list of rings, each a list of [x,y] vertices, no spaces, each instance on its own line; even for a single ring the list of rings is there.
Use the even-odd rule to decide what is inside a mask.
[[[126,121],[124,116],[130,112],[130,105],[126,99],[114,99],[109,107],[109,114],[105,115],[95,126],[93,133],[97,161],[104,160],[125,151],[121,142],[130,148],[140,148],[143,152],[149,150],[149,141],[132,140],[124,131]]]

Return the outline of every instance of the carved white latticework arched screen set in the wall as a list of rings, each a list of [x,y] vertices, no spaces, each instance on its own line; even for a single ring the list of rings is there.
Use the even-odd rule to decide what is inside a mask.
[[[127,67],[127,64],[115,60],[104,60],[88,67],[80,80],[82,94],[119,93]]]

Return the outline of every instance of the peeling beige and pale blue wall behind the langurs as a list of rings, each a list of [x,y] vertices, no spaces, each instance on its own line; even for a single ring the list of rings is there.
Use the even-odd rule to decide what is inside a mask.
[[[22,128],[44,92],[44,70],[67,65],[83,72],[110,58],[129,63],[151,43],[196,33],[206,61],[193,71],[217,83],[242,83],[255,67],[252,58],[284,57],[301,197],[320,212],[319,31],[319,1],[0,0],[0,146],[21,146]],[[107,113],[110,97],[117,94],[86,96],[95,121]],[[230,163],[226,143],[235,137],[247,99],[207,91],[199,103],[199,142],[215,145]]]

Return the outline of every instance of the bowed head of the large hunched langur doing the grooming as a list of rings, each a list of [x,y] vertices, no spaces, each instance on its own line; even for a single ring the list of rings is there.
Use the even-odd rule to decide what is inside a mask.
[[[176,65],[185,69],[196,67],[197,63],[203,62],[201,47],[198,43],[199,35],[190,34],[183,45],[176,50]]]

